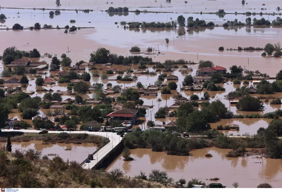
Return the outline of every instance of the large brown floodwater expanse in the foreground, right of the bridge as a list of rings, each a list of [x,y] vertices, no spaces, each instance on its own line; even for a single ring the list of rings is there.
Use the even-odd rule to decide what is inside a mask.
[[[172,156],[165,152],[152,152],[151,149],[133,149],[133,161],[125,162],[118,157],[108,168],[108,171],[118,168],[128,176],[135,176],[144,171],[148,176],[152,169],[166,171],[174,181],[182,176],[186,181],[197,178],[206,183],[219,182],[229,188],[238,182],[240,188],[256,186],[260,183],[270,183],[273,187],[281,187],[282,163],[280,159],[256,158],[259,155],[238,158],[227,158],[230,149],[216,147],[191,151],[191,156]],[[205,157],[211,153],[213,157]],[[204,173],[204,174],[203,174]],[[218,181],[210,178],[218,177]],[[208,180],[206,180],[208,179]]]

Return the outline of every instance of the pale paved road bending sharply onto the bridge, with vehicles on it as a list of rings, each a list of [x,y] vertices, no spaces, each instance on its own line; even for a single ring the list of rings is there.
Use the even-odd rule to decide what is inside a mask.
[[[3,129],[2,129],[3,131]],[[23,133],[39,133],[40,131],[38,130],[33,130],[33,129],[25,129],[25,130],[13,130],[13,129],[5,129],[5,132],[23,132]],[[48,133],[61,133],[62,131],[49,131]],[[64,131],[66,132],[66,131]],[[97,135],[97,136],[104,136],[104,137],[108,137],[110,142],[105,145],[102,149],[100,149],[98,151],[97,154],[94,155],[94,160],[92,160],[90,163],[84,163],[83,165],[81,165],[81,167],[88,169],[88,168],[92,168],[94,167],[94,165],[96,165],[96,163],[98,161],[100,161],[100,159],[102,159],[107,153],[109,153],[116,145],[118,145],[118,143],[122,140],[122,137],[120,137],[119,135],[117,135],[116,133],[112,133],[112,132],[88,132],[88,131],[70,131],[67,133],[71,133],[71,134],[77,134],[77,133],[87,133],[89,135]],[[94,153],[94,151],[89,151],[90,153]],[[86,159],[86,156],[85,156]]]

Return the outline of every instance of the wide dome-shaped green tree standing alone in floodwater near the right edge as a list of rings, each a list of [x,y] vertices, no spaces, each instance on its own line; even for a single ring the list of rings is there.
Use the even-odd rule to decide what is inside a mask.
[[[236,104],[236,108],[239,111],[259,111],[263,109],[263,101],[252,96],[244,96]]]

